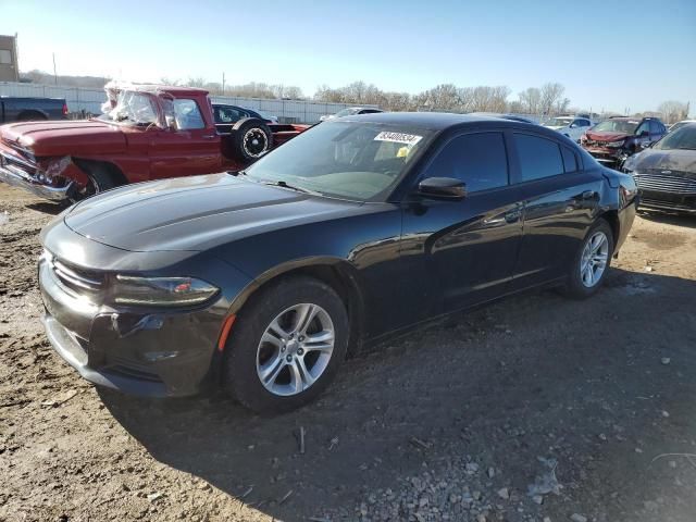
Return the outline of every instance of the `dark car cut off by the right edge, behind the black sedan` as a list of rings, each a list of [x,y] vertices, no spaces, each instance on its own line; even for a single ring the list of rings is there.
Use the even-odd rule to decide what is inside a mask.
[[[641,208],[696,214],[696,123],[632,156],[623,165],[641,190]]]

